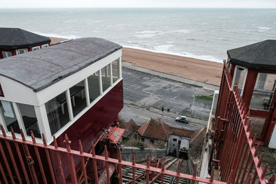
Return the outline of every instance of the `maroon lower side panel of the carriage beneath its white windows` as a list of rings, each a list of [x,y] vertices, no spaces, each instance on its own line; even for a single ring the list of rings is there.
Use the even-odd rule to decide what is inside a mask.
[[[121,109],[124,107],[123,96],[123,81],[115,85],[105,96],[103,96],[90,110],[83,114],[75,123],[57,137],[58,145],[64,145],[63,140],[66,134],[70,135],[72,143],[70,147],[73,150],[79,149],[79,142],[82,143],[83,152],[91,150],[91,143],[96,142],[103,130],[108,129],[115,121]],[[53,145],[54,143],[51,143]],[[97,150],[96,150],[97,151]],[[58,158],[55,152],[50,152],[52,165],[55,167],[57,181],[61,181],[61,174],[59,174]],[[61,156],[61,162],[66,160],[66,156]],[[75,165],[81,164],[81,159],[74,159]],[[66,178],[70,174],[68,168],[63,168],[63,173]]]

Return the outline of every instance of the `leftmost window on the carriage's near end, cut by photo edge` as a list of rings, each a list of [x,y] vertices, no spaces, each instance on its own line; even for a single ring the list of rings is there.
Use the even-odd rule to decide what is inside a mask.
[[[10,127],[12,127],[15,133],[20,134],[20,128],[12,107],[12,103],[10,101],[1,101],[0,112],[8,131],[10,132]]]

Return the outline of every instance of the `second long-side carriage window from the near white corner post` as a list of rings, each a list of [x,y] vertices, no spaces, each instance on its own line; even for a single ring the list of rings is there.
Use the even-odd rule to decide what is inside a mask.
[[[84,81],[77,83],[70,88],[73,115],[76,116],[86,108],[86,93],[84,91]]]

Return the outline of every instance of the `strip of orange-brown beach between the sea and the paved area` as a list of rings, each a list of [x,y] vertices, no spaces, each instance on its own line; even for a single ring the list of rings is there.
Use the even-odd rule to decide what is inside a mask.
[[[50,39],[52,44],[66,40],[56,37],[50,37]],[[222,63],[133,48],[123,48],[121,60],[141,68],[212,85],[220,84],[223,68]]]

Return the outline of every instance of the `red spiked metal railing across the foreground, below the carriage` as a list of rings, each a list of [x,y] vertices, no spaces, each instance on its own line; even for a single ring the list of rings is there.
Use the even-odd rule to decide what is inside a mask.
[[[43,137],[43,143],[37,143],[32,134],[32,141],[27,141],[23,132],[21,137],[17,138],[12,131],[12,136],[7,136],[3,127],[1,127],[2,135],[0,134],[0,183],[88,183],[88,177],[86,170],[86,160],[92,159],[94,171],[95,171],[95,183],[99,183],[99,177],[97,173],[97,163],[104,162],[106,164],[106,180],[110,183],[110,170],[108,165],[115,165],[117,167],[117,174],[119,183],[122,181],[122,167],[132,167],[132,174],[135,174],[136,169],[146,171],[146,183],[150,183],[149,172],[155,172],[161,176],[161,183],[164,183],[164,175],[175,176],[176,181],[179,178],[186,178],[191,183],[196,181],[202,183],[224,183],[221,181],[213,180],[214,168],[210,178],[200,178],[196,176],[196,166],[194,174],[182,174],[179,169],[177,172],[172,172],[165,169],[164,160],[161,161],[161,168],[150,167],[150,157],[148,155],[147,165],[141,165],[135,163],[135,154],[133,154],[133,161],[127,162],[121,160],[121,152],[118,150],[118,159],[112,159],[108,157],[108,150],[105,147],[105,156],[95,154],[94,146],[92,145],[92,153],[86,153],[82,150],[81,141],[79,141],[79,150],[71,150],[70,140],[68,136],[65,137],[66,147],[59,147],[57,141],[54,141],[54,145],[46,145],[46,140]],[[14,152],[14,147],[16,152]],[[51,152],[55,153],[56,161],[59,168],[54,168],[52,164]],[[43,155],[43,156],[42,156]],[[61,156],[66,156],[66,161],[61,162]],[[2,158],[2,161],[1,161]],[[75,168],[75,159],[81,159],[81,172],[83,172],[83,178],[80,178],[80,174],[77,174]],[[11,160],[11,162],[10,162]],[[19,161],[19,162],[17,162]],[[66,177],[64,169],[68,169],[70,174]],[[180,168],[180,163],[178,168]],[[61,175],[61,181],[57,180],[57,172]],[[135,179],[135,177],[133,177]]]

